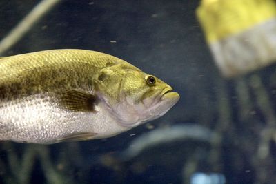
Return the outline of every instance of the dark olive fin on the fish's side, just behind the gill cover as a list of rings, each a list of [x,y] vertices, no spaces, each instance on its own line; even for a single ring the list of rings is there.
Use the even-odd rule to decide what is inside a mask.
[[[78,90],[61,90],[57,93],[62,108],[72,111],[94,111],[97,97]]]

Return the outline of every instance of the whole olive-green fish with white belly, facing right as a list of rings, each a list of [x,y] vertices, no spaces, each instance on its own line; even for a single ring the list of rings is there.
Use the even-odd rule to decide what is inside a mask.
[[[0,140],[103,139],[163,116],[179,94],[127,61],[60,49],[0,59]]]

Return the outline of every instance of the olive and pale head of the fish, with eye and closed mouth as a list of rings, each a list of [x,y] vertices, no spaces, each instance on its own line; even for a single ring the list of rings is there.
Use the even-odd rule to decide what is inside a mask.
[[[127,127],[157,119],[179,100],[164,81],[124,65],[103,69],[96,85],[109,112]]]

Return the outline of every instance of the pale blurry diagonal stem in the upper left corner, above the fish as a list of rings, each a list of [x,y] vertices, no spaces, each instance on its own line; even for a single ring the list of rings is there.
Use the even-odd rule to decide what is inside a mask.
[[[44,14],[49,12],[53,6],[61,0],[42,0],[32,11],[24,17],[15,28],[13,28],[6,37],[0,41],[0,54],[6,52],[17,43],[28,32],[34,23],[39,21]]]

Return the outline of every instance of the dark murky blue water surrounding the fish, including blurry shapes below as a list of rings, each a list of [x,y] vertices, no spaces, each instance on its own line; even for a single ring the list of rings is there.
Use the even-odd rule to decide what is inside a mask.
[[[38,1],[1,1],[0,38]],[[170,83],[165,116],[110,139],[0,143],[0,183],[274,183],[275,65],[224,79],[200,28],[199,1],[60,1],[3,56],[97,50]],[[0,114],[1,116],[1,114]]]

